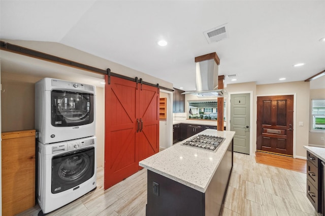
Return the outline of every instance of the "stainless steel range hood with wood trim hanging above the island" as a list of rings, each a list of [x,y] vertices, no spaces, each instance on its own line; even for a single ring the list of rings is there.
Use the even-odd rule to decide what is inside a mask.
[[[182,94],[200,97],[225,97],[228,93],[218,89],[218,65],[220,60],[216,53],[210,53],[195,58],[196,62],[196,90]]]

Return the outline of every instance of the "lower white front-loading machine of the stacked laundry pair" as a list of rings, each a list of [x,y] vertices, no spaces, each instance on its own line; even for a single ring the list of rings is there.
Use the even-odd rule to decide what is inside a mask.
[[[96,137],[38,142],[38,202],[43,214],[96,188]]]

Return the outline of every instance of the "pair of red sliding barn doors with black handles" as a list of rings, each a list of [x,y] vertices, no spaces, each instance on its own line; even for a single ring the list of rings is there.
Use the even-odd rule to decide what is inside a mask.
[[[140,160],[158,151],[158,89],[111,76],[105,87],[104,189],[133,175]]]

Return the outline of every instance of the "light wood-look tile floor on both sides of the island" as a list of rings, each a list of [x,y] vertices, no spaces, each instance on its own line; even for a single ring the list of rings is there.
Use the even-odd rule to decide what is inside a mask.
[[[47,215],[145,215],[146,169],[106,191],[103,175],[103,168],[98,168],[95,191]],[[36,205],[18,215],[37,215],[39,211]],[[234,153],[234,168],[222,215],[319,216],[306,197],[306,174],[256,163],[254,156],[240,153]]]

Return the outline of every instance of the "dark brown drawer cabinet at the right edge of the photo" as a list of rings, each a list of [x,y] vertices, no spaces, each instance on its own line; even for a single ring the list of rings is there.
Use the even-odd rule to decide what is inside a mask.
[[[307,198],[319,213],[323,213],[321,160],[307,151]]]

